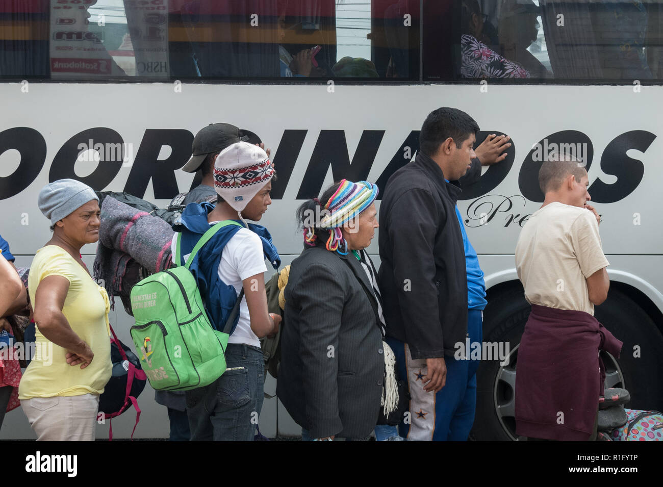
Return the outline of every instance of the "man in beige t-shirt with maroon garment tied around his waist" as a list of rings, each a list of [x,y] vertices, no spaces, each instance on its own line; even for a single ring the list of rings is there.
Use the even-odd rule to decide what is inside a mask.
[[[515,251],[532,304],[518,349],[516,434],[592,441],[605,379],[599,350],[619,357],[623,345],[594,317],[610,286],[600,217],[575,158],[558,154],[543,162],[538,178],[544,203],[520,231]]]

